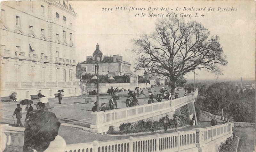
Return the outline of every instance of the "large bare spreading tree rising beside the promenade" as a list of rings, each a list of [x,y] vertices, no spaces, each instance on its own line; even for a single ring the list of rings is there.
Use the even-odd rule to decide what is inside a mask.
[[[210,31],[196,21],[186,23],[178,17],[159,19],[152,34],[132,40],[133,52],[137,53],[135,69],[168,77],[173,95],[175,82],[190,71],[204,68],[220,75],[219,66],[228,62],[219,37],[209,35]]]

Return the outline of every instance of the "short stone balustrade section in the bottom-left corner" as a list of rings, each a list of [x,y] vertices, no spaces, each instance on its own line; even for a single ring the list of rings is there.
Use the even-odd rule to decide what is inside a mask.
[[[11,127],[1,124],[1,150],[0,151],[22,151],[24,144],[25,128]]]

